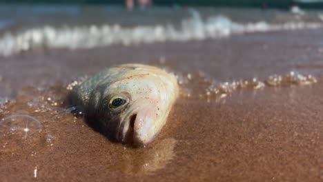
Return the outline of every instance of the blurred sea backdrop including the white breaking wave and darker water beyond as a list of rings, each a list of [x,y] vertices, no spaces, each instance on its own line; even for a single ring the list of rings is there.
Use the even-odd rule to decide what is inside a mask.
[[[322,0],[0,2],[3,56],[44,48],[214,39],[320,26],[323,19]]]

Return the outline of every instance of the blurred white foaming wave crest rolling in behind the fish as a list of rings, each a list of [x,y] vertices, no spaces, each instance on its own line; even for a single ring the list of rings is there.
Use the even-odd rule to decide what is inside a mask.
[[[173,24],[155,26],[135,26],[126,28],[115,25],[76,26],[55,28],[43,26],[31,28],[17,34],[7,32],[0,37],[0,54],[11,54],[35,48],[96,48],[112,44],[133,45],[163,41],[190,41],[217,39],[231,34],[246,32],[267,32],[277,30],[297,30],[303,28],[322,28],[323,23],[288,22],[270,24],[265,21],[256,23],[235,23],[222,15],[209,17],[205,21],[195,10],[192,16],[184,19],[179,26]]]

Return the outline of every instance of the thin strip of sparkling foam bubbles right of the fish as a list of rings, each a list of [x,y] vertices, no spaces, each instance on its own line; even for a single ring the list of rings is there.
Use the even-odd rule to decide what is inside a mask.
[[[201,73],[189,73],[187,74],[187,77],[183,75],[177,75],[179,85],[182,87],[181,96],[183,98],[215,99],[215,101],[228,97],[237,90],[260,90],[266,87],[289,87],[317,83],[317,78],[313,77],[311,74],[304,75],[293,71],[288,74],[273,74],[264,80],[253,78],[222,82],[215,81],[215,79]]]

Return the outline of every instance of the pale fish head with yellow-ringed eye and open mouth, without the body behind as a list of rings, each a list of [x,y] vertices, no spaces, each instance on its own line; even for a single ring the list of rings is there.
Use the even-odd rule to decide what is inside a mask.
[[[178,92],[175,76],[163,73],[130,72],[101,84],[97,115],[117,141],[147,145],[160,132]]]

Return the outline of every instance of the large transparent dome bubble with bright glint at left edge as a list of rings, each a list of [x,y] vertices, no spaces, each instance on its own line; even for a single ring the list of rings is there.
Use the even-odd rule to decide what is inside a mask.
[[[1,151],[27,150],[46,142],[41,122],[26,114],[13,114],[0,121]],[[2,147],[1,147],[2,145]]]

